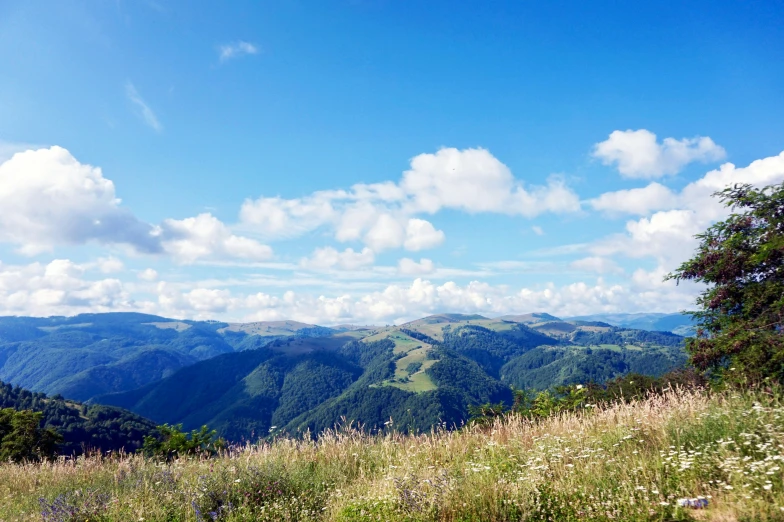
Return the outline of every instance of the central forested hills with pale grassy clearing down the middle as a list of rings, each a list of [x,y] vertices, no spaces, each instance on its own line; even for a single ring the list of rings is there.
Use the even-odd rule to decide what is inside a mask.
[[[547,314],[442,314],[399,327],[258,339],[242,341],[250,349],[94,400],[186,430],[207,424],[230,440],[315,435],[341,422],[419,432],[460,425],[471,405],[511,405],[511,387],[659,375],[685,361],[677,335]]]

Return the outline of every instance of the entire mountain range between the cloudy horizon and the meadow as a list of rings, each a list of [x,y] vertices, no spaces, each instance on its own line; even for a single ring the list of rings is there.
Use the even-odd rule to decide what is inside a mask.
[[[438,314],[334,328],[135,313],[3,317],[0,380],[242,440],[316,434],[340,422],[459,425],[469,405],[511,404],[512,387],[659,375],[684,364],[682,336],[609,320],[681,327],[688,318],[601,317]]]

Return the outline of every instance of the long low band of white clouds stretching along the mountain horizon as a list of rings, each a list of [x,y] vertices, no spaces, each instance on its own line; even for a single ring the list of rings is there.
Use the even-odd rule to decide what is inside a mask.
[[[481,281],[437,284],[422,277],[432,272],[428,259],[408,258],[398,264],[400,275],[417,276],[408,284],[389,284],[379,290],[338,291],[332,295],[309,291],[234,292],[232,284],[216,281],[160,281],[145,285],[143,299],[133,297],[138,284],[101,276],[94,266],[67,259],[48,264],[10,266],[0,263],[0,315],[72,315],[83,312],[139,311],[168,317],[224,320],[295,319],[316,324],[343,322],[401,322],[445,311],[480,313],[549,312],[583,315],[598,312],[672,311],[687,308],[693,285],[663,282],[663,272],[637,270],[628,284],[566,285],[542,283],[533,287],[491,285]],[[97,277],[96,277],[97,276]],[[144,279],[144,278],[142,278]],[[148,280],[153,279],[149,277]],[[234,288],[246,288],[245,285]]]

